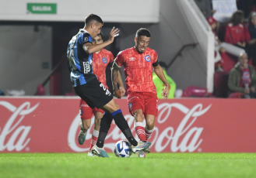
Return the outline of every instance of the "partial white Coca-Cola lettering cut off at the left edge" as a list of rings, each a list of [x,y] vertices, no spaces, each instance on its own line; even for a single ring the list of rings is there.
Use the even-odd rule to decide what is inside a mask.
[[[0,152],[5,149],[19,152],[26,147],[30,142],[30,138],[27,137],[31,126],[21,125],[20,123],[23,121],[23,118],[32,113],[38,105],[39,103],[31,107],[30,102],[27,101],[19,107],[16,107],[7,101],[0,101],[0,108],[6,108],[12,113],[5,125],[2,128],[0,127]],[[12,135],[10,135],[11,133]],[[6,139],[7,136],[9,136],[8,140]]]

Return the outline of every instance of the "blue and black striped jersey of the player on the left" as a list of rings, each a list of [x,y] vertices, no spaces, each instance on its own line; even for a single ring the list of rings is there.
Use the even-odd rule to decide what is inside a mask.
[[[85,43],[92,42],[92,36],[85,29],[80,29],[68,43],[68,69],[73,87],[86,84],[96,77],[93,74],[93,54],[86,53],[82,48]]]

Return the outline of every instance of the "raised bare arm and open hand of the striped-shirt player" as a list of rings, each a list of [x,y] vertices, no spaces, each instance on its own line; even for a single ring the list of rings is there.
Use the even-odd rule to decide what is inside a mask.
[[[110,31],[109,39],[101,44],[92,44],[92,43],[85,43],[82,48],[86,51],[86,53],[95,53],[98,50],[103,49],[104,47],[110,45],[114,42],[115,35],[119,33],[119,29],[113,27]]]

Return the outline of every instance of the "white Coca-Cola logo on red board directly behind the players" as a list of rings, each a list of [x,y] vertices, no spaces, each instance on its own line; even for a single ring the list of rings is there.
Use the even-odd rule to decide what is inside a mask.
[[[202,104],[195,104],[193,108],[187,108],[180,103],[163,103],[159,105],[159,115],[156,118],[156,125],[164,125],[164,129],[160,129],[155,126],[154,132],[152,134],[151,142],[152,146],[156,152],[162,152],[164,149],[168,149],[170,152],[194,152],[201,145],[203,139],[201,138],[203,129],[202,127],[196,126],[196,120],[204,115],[212,104],[209,104],[206,108],[203,108]],[[184,114],[180,124],[174,129],[167,124],[167,119],[173,119],[172,109],[176,108],[178,111],[181,111]],[[124,115],[124,118],[127,120],[128,125],[130,126],[132,133],[135,135],[133,128],[134,118],[132,115]],[[177,118],[176,118],[177,119]],[[75,140],[77,139],[77,132],[79,129],[80,117],[77,115],[72,122],[71,127],[68,132],[68,145],[75,152],[86,152],[89,148],[82,148],[77,145]],[[92,121],[93,123],[93,121]],[[113,126],[112,126],[113,127]],[[93,125],[89,128],[89,131],[86,135],[86,140],[91,139]],[[105,149],[114,149],[114,145],[118,140],[125,139],[124,135],[121,133],[117,125],[114,125],[113,129],[110,129],[110,132],[107,134],[104,147]],[[137,136],[135,139],[138,139]]]

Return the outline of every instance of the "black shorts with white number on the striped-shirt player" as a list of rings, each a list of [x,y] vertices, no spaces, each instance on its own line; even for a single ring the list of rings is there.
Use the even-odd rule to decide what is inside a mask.
[[[113,99],[110,91],[96,78],[86,84],[74,87],[75,93],[86,101],[90,108],[102,108]]]

